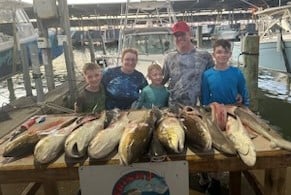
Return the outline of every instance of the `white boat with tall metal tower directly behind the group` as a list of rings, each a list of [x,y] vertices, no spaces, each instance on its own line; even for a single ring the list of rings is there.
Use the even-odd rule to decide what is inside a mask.
[[[136,69],[146,73],[152,62],[162,64],[164,56],[172,49],[174,43],[171,26],[175,23],[171,2],[156,0],[127,1],[121,11],[121,29],[118,40],[120,61],[122,50],[136,48],[139,59]]]

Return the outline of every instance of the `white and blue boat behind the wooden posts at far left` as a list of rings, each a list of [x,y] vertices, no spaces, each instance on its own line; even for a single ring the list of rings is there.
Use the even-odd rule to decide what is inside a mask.
[[[26,7],[31,7],[31,4],[15,0],[0,1],[0,80],[21,72],[21,45],[26,48],[37,45],[38,32],[24,11]],[[63,53],[63,47],[57,43],[56,31],[49,30],[48,33],[54,59]],[[42,63],[41,49],[39,60]]]

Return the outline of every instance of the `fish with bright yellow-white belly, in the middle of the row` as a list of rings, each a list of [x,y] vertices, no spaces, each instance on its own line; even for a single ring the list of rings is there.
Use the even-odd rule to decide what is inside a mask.
[[[184,125],[174,114],[164,111],[158,117],[156,128],[158,139],[166,149],[175,153],[184,151]]]

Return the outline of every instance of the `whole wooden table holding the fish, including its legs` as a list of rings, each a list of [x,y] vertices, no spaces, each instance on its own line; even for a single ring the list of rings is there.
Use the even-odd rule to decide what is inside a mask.
[[[56,120],[60,115],[48,115],[46,121]],[[62,117],[74,117],[72,114]],[[9,136],[9,135],[7,135]],[[1,138],[0,141],[5,139]],[[264,184],[257,184],[254,180],[252,186],[264,194],[285,194],[287,167],[291,167],[291,152],[272,149],[270,142],[261,136],[253,139],[257,151],[256,164],[253,167],[245,165],[239,156],[226,156],[216,150],[211,152],[194,153],[187,149],[183,154],[169,155],[170,161],[187,160],[190,172],[221,172],[230,171],[230,194],[240,194],[241,173],[247,170],[265,170]],[[11,183],[41,183],[45,194],[58,194],[58,181],[79,180],[78,168],[80,166],[98,166],[119,164],[118,154],[112,154],[103,160],[72,160],[61,155],[49,165],[38,165],[33,155],[19,159],[2,157],[4,142],[0,145],[0,184]],[[140,162],[148,162],[143,158]],[[157,162],[158,163],[158,162]],[[122,166],[122,165],[120,165]],[[250,174],[246,174],[250,176]],[[289,175],[290,177],[290,175]],[[260,187],[264,186],[264,187]],[[0,194],[2,192],[0,191]],[[260,193],[257,193],[260,194]]]

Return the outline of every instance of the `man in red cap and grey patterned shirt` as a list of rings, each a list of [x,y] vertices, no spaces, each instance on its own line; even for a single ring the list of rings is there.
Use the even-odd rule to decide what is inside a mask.
[[[204,70],[214,66],[211,55],[197,50],[191,42],[191,30],[184,21],[172,27],[176,50],[164,59],[163,84],[168,82],[169,106],[195,106],[200,97],[201,77]]]

